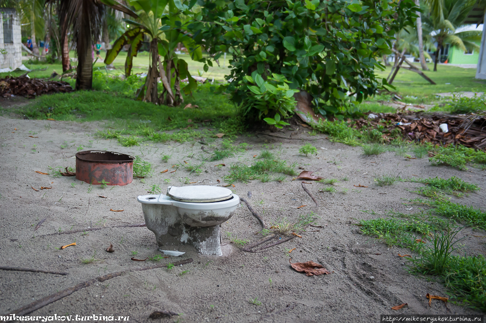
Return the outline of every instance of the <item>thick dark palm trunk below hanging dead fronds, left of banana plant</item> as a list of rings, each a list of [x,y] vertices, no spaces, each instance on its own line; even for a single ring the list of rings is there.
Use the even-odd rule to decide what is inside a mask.
[[[79,37],[76,44],[78,50],[78,65],[76,67],[76,87],[75,90],[91,90],[93,86],[93,47],[91,45],[91,35],[85,35],[88,44],[81,44],[85,40]],[[84,49],[84,52],[80,50]]]

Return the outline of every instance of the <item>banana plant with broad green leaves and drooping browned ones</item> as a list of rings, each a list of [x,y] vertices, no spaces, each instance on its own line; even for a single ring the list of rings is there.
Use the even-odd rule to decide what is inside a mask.
[[[101,0],[106,3],[113,0]],[[105,64],[111,64],[121,49],[129,45],[126,61],[125,76],[129,76],[133,67],[133,58],[137,56],[145,38],[150,41],[150,64],[144,84],[139,89],[137,99],[168,106],[180,105],[184,100],[181,93],[181,79],[188,79],[183,87],[187,94],[197,87],[191,77],[187,63],[180,59],[174,49],[183,43],[190,50],[191,58],[203,60],[200,47],[194,45],[189,34],[183,32],[184,16],[191,14],[195,1],[184,0],[128,0],[128,4],[135,8],[129,15],[135,20],[124,19],[128,30],[123,33],[108,50]],[[126,8],[126,7],[125,7]],[[128,8],[126,8],[128,9]],[[128,9],[130,10],[130,9]],[[160,56],[163,57],[163,61]],[[163,91],[158,95],[158,78],[162,81]],[[174,89],[174,90],[173,90]]]

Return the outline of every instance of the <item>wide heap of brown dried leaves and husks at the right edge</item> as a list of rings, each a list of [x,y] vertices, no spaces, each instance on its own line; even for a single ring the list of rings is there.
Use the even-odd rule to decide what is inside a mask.
[[[447,124],[448,132],[440,129]],[[358,129],[382,126],[382,138],[385,142],[393,139],[392,130],[400,129],[404,139],[420,143],[439,145],[464,145],[486,150],[486,115],[422,113],[404,111],[399,113],[367,113],[367,117],[355,121]]]

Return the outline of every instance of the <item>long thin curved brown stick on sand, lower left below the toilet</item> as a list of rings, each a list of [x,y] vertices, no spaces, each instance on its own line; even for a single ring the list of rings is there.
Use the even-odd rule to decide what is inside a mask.
[[[179,266],[179,265],[185,265],[185,264],[191,263],[191,262],[192,262],[192,259],[189,258],[189,259],[185,259],[185,260],[181,260],[181,261],[174,262],[173,265],[174,266]],[[124,275],[127,272],[135,272],[135,271],[142,271],[142,270],[149,270],[149,269],[167,267],[167,265],[168,264],[156,265],[156,266],[148,266],[148,267],[141,267],[141,268],[133,268],[133,269],[130,269],[130,270],[127,270],[127,271],[115,272],[115,273],[111,273],[111,274],[106,274],[106,275],[103,275],[103,276],[99,276],[99,277],[96,277],[96,278],[93,278],[93,279],[89,279],[89,280],[84,281],[82,283],[79,283],[79,284],[77,284],[77,285],[75,285],[73,287],[69,287],[68,289],[65,289],[64,291],[59,291],[57,293],[48,295],[48,296],[46,296],[44,298],[38,299],[38,300],[36,300],[35,302],[32,302],[29,305],[26,305],[24,307],[20,307],[20,308],[18,308],[16,310],[12,311],[8,315],[10,315],[10,314],[26,315],[26,314],[29,314],[29,313],[34,312],[35,310],[37,310],[39,308],[42,308],[42,307],[45,307],[46,305],[49,305],[51,303],[54,303],[55,301],[58,301],[58,300],[66,297],[66,296],[69,296],[70,294],[72,294],[75,291],[79,291],[79,290],[82,290],[84,288],[87,288],[87,287],[93,285],[96,282],[104,282],[105,280],[108,280],[108,279],[111,279],[111,278],[115,278],[115,277]]]

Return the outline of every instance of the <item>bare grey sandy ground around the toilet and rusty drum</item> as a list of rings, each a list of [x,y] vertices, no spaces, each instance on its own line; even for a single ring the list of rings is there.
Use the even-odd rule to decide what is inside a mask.
[[[389,248],[381,241],[361,235],[353,226],[358,219],[386,217],[389,210],[415,212],[417,207],[404,205],[405,199],[420,184],[396,182],[379,187],[374,178],[384,174],[402,178],[457,176],[486,187],[486,173],[471,168],[461,172],[450,167],[434,167],[427,158],[405,160],[394,152],[364,157],[359,147],[331,143],[325,135],[310,136],[307,129],[270,135],[242,136],[235,144],[247,143],[248,150],[224,161],[206,162],[200,175],[179,168],[175,173],[160,174],[183,160],[198,162],[204,156],[197,142],[154,144],[122,147],[116,140],[95,136],[103,123],[75,123],[22,120],[0,117],[0,255],[3,266],[29,267],[67,271],[69,275],[50,275],[0,270],[0,314],[9,313],[39,298],[74,286],[88,279],[149,265],[132,261],[159,255],[154,234],[146,227],[109,228],[109,226],[143,222],[137,196],[147,194],[152,184],[165,192],[167,183],[182,186],[185,178],[206,185],[222,183],[229,165],[251,163],[253,155],[271,149],[278,158],[296,162],[297,167],[315,171],[315,175],[336,178],[335,188],[347,193],[319,193],[325,184],[307,187],[317,198],[315,207],[298,180],[287,176],[282,183],[258,180],[235,183],[236,194],[248,199],[267,223],[281,218],[296,220],[301,214],[313,212],[322,228],[303,237],[267,249],[260,254],[246,253],[230,243],[228,235],[250,242],[260,238],[258,221],[243,205],[222,225],[225,256],[206,257],[195,250],[182,257],[162,259],[159,263],[192,258],[190,264],[173,268],[158,268],[131,272],[104,283],[72,293],[42,307],[32,315],[115,315],[130,316],[130,321],[152,322],[150,313],[170,310],[183,313],[179,318],[161,322],[378,322],[381,314],[453,314],[477,313],[465,307],[440,301],[429,307],[427,293],[446,296],[442,284],[433,277],[424,279],[407,272],[398,253],[410,253]],[[292,134],[293,132],[293,134]],[[31,138],[29,136],[38,137]],[[281,139],[290,138],[292,139]],[[218,145],[222,139],[214,139]],[[315,145],[317,156],[299,156],[298,148],[306,142]],[[139,155],[154,165],[154,175],[134,179],[127,186],[99,186],[89,189],[87,183],[72,177],[54,178],[35,171],[51,173],[49,166],[75,166],[77,150],[107,149]],[[171,154],[168,163],[162,154]],[[192,158],[190,157],[192,156]],[[224,162],[226,167],[214,167]],[[341,178],[347,177],[347,181]],[[182,181],[182,182],[181,182]],[[368,186],[358,188],[359,184]],[[221,184],[219,184],[221,185]],[[41,186],[50,190],[34,191]],[[251,198],[248,198],[251,192]],[[486,190],[470,194],[461,203],[485,208]],[[107,198],[100,198],[104,195]],[[303,208],[297,209],[301,205]],[[124,210],[122,212],[111,212]],[[362,210],[373,210],[375,215]],[[37,223],[47,218],[37,231]],[[105,226],[98,231],[43,236],[59,231]],[[308,230],[313,231],[313,230]],[[485,254],[485,232],[463,229],[464,250],[469,255]],[[76,246],[59,250],[61,245],[76,242]],[[114,253],[107,253],[110,243]],[[289,255],[288,250],[296,248]],[[81,259],[98,261],[84,264]],[[289,265],[292,262],[315,261],[332,272],[331,275],[306,276]],[[150,262],[157,264],[156,262]],[[179,275],[188,271],[184,275]],[[270,281],[271,280],[271,281]],[[261,305],[250,303],[258,298]],[[399,311],[391,307],[408,303]]]

